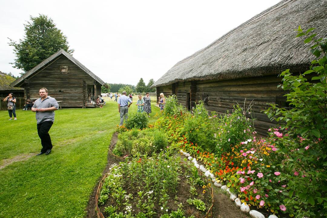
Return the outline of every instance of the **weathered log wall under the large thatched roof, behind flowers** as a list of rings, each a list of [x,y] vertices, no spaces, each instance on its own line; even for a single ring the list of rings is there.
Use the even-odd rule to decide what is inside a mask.
[[[261,111],[269,107],[267,104],[279,104],[286,99],[282,89],[277,85],[282,83],[281,78],[276,75],[243,78],[223,81],[194,81],[179,82],[169,86],[157,87],[157,98],[163,92],[165,96],[175,94],[178,102],[187,106],[186,96],[190,93],[191,108],[197,101],[203,100],[208,111],[216,111],[218,114],[231,112],[235,104],[248,107],[250,102],[252,114],[248,117],[254,118],[254,126],[261,135],[266,135],[270,126],[276,126],[276,122],[270,121],[266,114]]]

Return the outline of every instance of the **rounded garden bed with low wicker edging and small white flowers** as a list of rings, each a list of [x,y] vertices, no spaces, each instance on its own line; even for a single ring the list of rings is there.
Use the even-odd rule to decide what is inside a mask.
[[[212,212],[210,183],[171,150],[111,167],[98,188],[99,217],[206,217]],[[207,214],[209,210],[209,213]]]

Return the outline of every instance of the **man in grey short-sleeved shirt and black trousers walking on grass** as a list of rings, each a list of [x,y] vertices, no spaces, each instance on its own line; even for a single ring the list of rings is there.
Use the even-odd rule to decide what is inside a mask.
[[[41,88],[39,91],[40,97],[34,102],[32,111],[36,112],[38,134],[41,139],[42,149],[37,155],[50,154],[52,149],[49,130],[55,121],[55,110],[58,110],[56,99],[48,96],[48,90]]]

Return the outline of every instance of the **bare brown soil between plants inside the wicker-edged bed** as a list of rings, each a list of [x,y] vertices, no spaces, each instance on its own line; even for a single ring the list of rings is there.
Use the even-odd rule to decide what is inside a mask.
[[[198,186],[196,185],[195,188],[197,189],[197,195],[192,195],[189,190],[190,190],[190,185],[187,183],[187,179],[186,177],[184,177],[185,175],[185,169],[184,167],[182,167],[182,173],[179,176],[180,178],[180,184],[177,187],[177,193],[169,193],[170,195],[170,199],[168,200],[168,204],[167,207],[169,208],[168,212],[161,210],[161,206],[162,204],[159,203],[159,197],[157,197],[157,199],[155,200],[154,204],[155,204],[155,208],[153,209],[153,211],[156,212],[156,214],[153,217],[160,217],[161,215],[163,215],[164,213],[170,213],[171,211],[176,211],[179,207],[178,205],[180,203],[182,203],[183,207],[181,208],[184,211],[184,216],[185,217],[189,217],[191,215],[195,216],[196,218],[200,218],[203,217],[208,209],[211,207],[212,205],[212,198],[211,198],[211,188],[207,186],[207,188],[202,188],[202,186]],[[205,180],[205,178],[203,177],[203,180]],[[208,184],[208,181],[206,181],[206,185]],[[136,205],[138,204],[138,194],[137,192],[139,192],[139,189],[135,188],[132,189],[131,188],[131,184],[130,184],[130,180],[127,179],[124,186],[122,187],[127,194],[131,193],[133,196],[133,199],[131,199],[129,201],[129,203],[132,205],[132,210],[133,214],[137,214],[140,212],[139,208],[136,207]],[[205,190],[205,193],[203,193],[203,190]],[[177,199],[175,199],[175,196],[177,196]],[[199,211],[198,209],[196,209],[196,207],[194,205],[189,205],[186,201],[189,198],[196,198],[196,199],[200,199],[202,200],[205,205],[206,205],[206,210],[204,212]],[[109,196],[109,199],[107,200],[107,202],[100,206],[100,210],[102,211],[102,213],[105,215],[105,212],[103,212],[105,207],[108,207],[110,205],[115,205],[115,201],[113,200],[113,198],[111,196]],[[124,207],[123,210],[120,210],[119,212],[123,212],[125,213]],[[145,212],[145,211],[143,211]]]

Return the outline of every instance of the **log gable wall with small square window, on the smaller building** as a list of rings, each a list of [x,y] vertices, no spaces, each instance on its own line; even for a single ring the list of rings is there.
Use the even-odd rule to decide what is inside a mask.
[[[61,74],[60,66],[68,66],[68,73]],[[62,101],[62,107],[85,107],[88,102],[87,85],[95,86],[99,95],[101,84],[85,73],[65,56],[59,56],[50,65],[25,79],[25,96],[39,98],[39,89],[47,88],[49,96]]]

